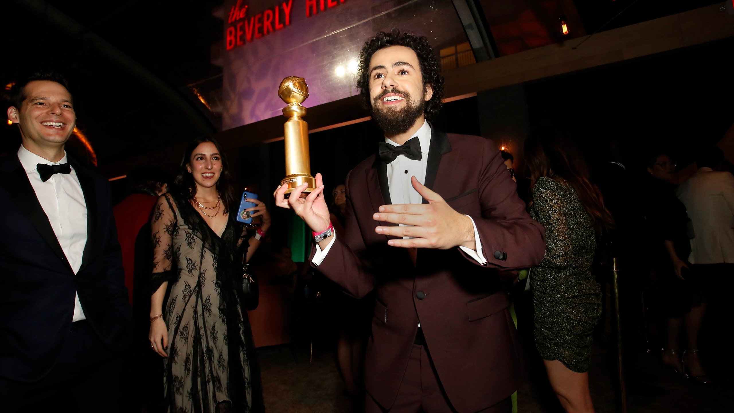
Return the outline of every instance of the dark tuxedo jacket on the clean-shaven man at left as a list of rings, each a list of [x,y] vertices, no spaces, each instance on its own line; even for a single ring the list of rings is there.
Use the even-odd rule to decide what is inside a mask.
[[[37,381],[54,367],[71,326],[74,292],[111,351],[128,343],[130,308],[109,183],[70,159],[87,203],[76,275],[16,154],[0,158],[0,376]]]

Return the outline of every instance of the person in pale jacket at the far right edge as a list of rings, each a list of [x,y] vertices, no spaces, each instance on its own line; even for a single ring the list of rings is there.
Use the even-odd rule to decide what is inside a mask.
[[[730,323],[728,304],[734,288],[734,176],[722,171],[723,162],[720,148],[712,146],[701,151],[696,157],[697,172],[677,190],[693,229],[693,234],[689,234],[688,262],[694,265],[694,273],[711,280],[711,288],[705,290],[709,306],[706,317],[710,319],[705,337],[710,339],[707,341],[711,342],[710,351],[714,354],[729,351],[727,340],[718,331]],[[694,342],[689,342],[688,350],[683,352],[683,363],[694,379],[708,381],[700,369]],[[730,357],[723,357],[716,364],[722,373],[732,367]]]

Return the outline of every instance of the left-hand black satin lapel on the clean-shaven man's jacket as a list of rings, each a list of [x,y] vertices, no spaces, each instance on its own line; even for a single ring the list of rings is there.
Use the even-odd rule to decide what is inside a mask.
[[[69,265],[68,259],[64,254],[64,250],[59,244],[59,240],[54,234],[54,229],[51,227],[51,222],[48,221],[46,212],[43,211],[43,206],[38,202],[36,192],[33,190],[31,182],[28,180],[26,171],[23,170],[23,166],[20,161],[15,169],[11,170],[10,173],[2,173],[4,175],[0,179],[0,184],[5,187],[7,193],[10,195],[18,209],[23,211],[29,221],[36,228],[43,240],[48,243],[51,250],[54,251],[59,259],[64,262],[66,267],[73,273],[71,265]]]

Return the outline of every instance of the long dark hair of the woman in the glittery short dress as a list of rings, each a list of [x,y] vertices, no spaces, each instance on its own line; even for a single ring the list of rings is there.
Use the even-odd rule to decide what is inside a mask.
[[[592,220],[597,237],[614,227],[614,218],[604,206],[601,191],[592,184],[584,157],[573,140],[559,131],[534,131],[526,138],[523,149],[530,170],[531,189],[542,176],[559,181],[561,178],[565,184],[573,186],[578,200]]]

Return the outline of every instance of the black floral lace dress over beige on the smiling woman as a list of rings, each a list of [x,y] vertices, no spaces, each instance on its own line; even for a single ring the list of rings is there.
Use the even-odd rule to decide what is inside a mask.
[[[253,396],[261,401],[259,372],[251,368],[252,333],[233,276],[246,231],[233,217],[215,234],[181,195],[163,195],[153,209],[153,291],[169,281],[164,395],[171,413],[214,412],[219,403],[225,411],[260,410],[251,409]]]

